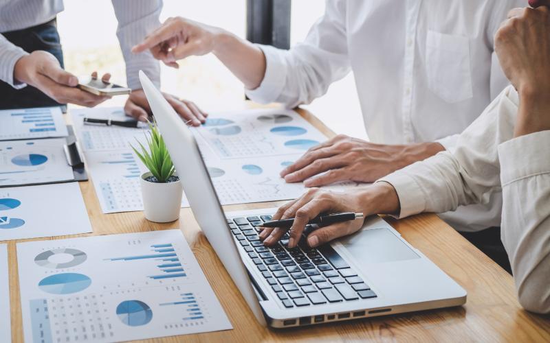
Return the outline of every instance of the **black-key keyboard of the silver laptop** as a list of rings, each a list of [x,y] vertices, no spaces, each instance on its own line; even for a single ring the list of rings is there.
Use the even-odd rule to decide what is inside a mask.
[[[274,246],[258,236],[271,215],[228,219],[230,230],[286,308],[376,298],[375,292],[330,245],[287,248],[285,233]]]

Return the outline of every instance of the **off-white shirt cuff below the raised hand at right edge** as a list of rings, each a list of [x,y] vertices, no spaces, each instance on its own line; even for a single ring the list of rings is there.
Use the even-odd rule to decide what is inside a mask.
[[[534,132],[498,145],[500,183],[550,174],[550,130]]]

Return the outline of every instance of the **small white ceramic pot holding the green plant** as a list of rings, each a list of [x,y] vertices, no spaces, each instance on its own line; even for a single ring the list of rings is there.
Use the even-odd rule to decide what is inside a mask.
[[[177,220],[181,209],[181,196],[184,193],[181,182],[179,180],[169,183],[148,182],[145,179],[149,176],[152,174],[148,171],[140,178],[145,217],[156,223]]]

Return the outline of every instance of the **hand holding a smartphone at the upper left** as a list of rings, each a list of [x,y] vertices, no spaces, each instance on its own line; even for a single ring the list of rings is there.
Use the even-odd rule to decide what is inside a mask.
[[[97,78],[98,74],[92,76]],[[109,81],[111,75],[102,78]],[[45,95],[61,104],[72,103],[93,107],[110,97],[88,93],[79,88],[78,78],[63,70],[59,61],[47,51],[34,51],[32,54],[19,58],[14,67],[14,79],[39,88]]]

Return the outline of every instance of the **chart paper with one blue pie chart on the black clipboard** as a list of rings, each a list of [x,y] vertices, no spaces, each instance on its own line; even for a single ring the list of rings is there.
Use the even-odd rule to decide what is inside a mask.
[[[74,180],[64,138],[0,141],[0,187]]]

